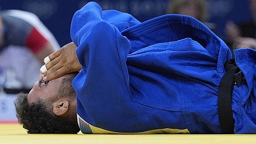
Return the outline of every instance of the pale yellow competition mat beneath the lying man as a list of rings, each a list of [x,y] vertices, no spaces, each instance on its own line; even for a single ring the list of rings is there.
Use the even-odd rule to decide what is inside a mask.
[[[242,144],[242,143],[256,143],[256,135],[175,135],[175,134],[110,134],[110,135],[96,135],[96,134],[27,134],[26,130],[18,124],[0,124],[0,143],[18,143],[18,144],[39,144],[39,143],[227,143],[227,144]]]

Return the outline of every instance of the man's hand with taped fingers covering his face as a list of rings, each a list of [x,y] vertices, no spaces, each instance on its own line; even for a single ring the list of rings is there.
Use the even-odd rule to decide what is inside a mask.
[[[80,71],[82,67],[75,54],[75,49],[77,49],[77,46],[74,43],[69,43],[48,56],[50,61],[45,63],[47,70],[41,71],[40,79],[50,81],[65,74]]]

